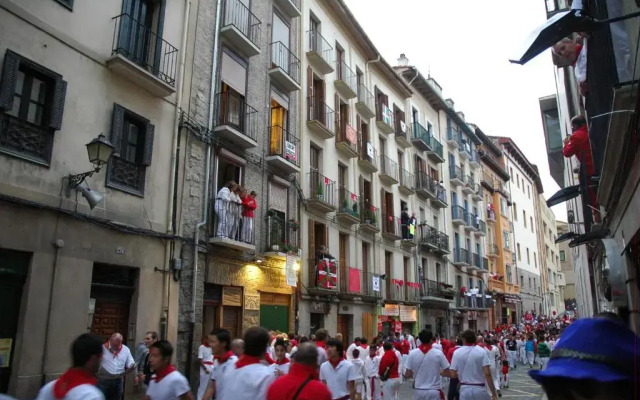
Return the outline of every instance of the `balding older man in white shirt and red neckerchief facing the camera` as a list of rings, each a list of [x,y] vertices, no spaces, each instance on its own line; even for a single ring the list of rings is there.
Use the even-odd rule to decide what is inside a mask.
[[[111,335],[102,347],[102,365],[98,370],[96,386],[106,400],[120,400],[124,376],[136,369],[136,363],[129,348],[122,344],[122,335],[119,333]]]

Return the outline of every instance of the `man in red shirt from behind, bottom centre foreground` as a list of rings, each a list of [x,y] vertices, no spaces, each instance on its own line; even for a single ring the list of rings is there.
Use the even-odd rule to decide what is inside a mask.
[[[296,397],[297,394],[297,397]],[[331,393],[318,380],[318,350],[303,343],[293,356],[289,373],[276,379],[267,391],[267,400],[331,400]]]

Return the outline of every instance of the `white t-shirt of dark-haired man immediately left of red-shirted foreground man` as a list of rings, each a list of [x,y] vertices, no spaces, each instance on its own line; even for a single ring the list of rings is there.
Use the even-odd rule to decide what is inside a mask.
[[[223,379],[224,389],[218,392],[217,400],[266,400],[267,389],[276,376],[272,369],[258,363],[227,368]]]

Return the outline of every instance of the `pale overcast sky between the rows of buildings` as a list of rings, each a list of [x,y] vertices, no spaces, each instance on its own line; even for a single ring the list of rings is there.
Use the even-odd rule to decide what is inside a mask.
[[[382,56],[400,53],[431,74],[445,98],[492,136],[512,138],[540,170],[545,198],[559,190],[549,173],[538,99],[556,93],[549,51],[511,64],[546,21],[543,0],[345,0]],[[553,208],[566,221],[564,205]]]

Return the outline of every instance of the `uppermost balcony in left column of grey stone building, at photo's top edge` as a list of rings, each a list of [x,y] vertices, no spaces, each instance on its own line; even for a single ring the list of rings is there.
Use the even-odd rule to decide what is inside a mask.
[[[252,57],[260,54],[261,22],[241,0],[225,0],[220,36],[234,50]]]

